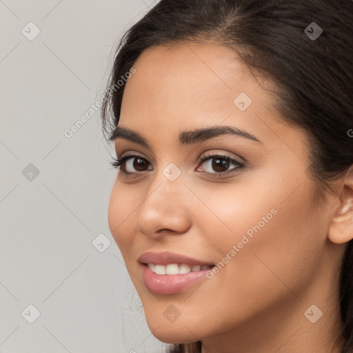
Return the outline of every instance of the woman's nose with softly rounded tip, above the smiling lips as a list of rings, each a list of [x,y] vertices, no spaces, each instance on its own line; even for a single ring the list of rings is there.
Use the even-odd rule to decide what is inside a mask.
[[[135,214],[135,228],[154,239],[183,234],[191,226],[190,190],[181,176],[170,181],[162,172],[151,181]]]

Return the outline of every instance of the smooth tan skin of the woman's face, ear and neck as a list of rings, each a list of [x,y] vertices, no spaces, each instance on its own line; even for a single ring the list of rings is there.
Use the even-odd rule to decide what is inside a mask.
[[[331,352],[341,330],[339,266],[353,234],[352,208],[345,207],[353,202],[352,171],[319,203],[307,171],[309,137],[281,121],[269,81],[229,48],[157,46],[134,68],[119,126],[142,134],[152,149],[115,141],[119,157],[137,152],[148,166],[135,177],[119,170],[108,221],[152,334],[165,343],[201,340],[203,353]],[[241,92],[252,99],[243,112],[233,103]],[[180,132],[216,124],[261,143],[224,135],[179,145]],[[213,177],[207,161],[196,163],[206,151],[245,161],[245,169]],[[170,163],[181,170],[175,181],[163,175]],[[216,264],[272,209],[277,214],[212,279],[170,295],[145,288],[137,261],[143,252]],[[313,304],[323,312],[316,323],[304,314]],[[170,305],[181,313],[174,322],[163,315]]]

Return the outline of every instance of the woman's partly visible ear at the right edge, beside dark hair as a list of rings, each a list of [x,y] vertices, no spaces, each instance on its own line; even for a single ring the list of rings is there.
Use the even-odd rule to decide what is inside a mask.
[[[339,201],[340,205],[330,223],[328,238],[332,243],[343,244],[353,239],[353,165],[343,177]]]

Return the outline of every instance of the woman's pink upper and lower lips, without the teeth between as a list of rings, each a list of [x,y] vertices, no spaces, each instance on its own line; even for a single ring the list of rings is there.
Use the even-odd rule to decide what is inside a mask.
[[[146,287],[154,294],[174,294],[190,288],[194,283],[205,279],[209,270],[192,271],[186,274],[155,274],[146,263],[168,265],[169,263],[188,265],[213,265],[205,261],[172,252],[145,252],[139,257]]]

